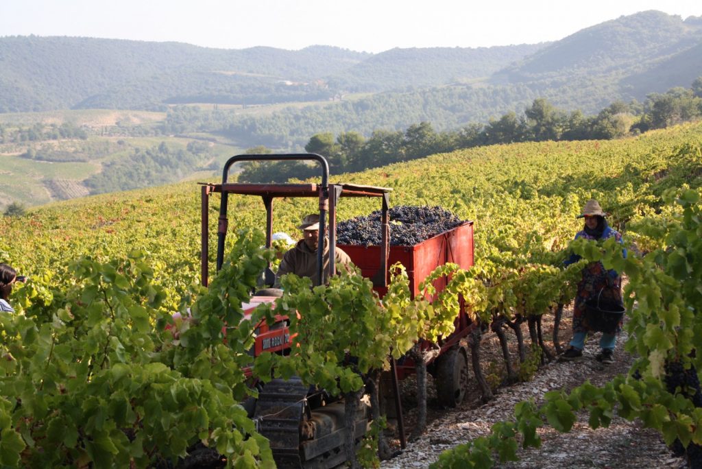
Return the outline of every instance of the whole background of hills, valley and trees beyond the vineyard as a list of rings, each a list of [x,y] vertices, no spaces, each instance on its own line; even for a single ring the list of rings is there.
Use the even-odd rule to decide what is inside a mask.
[[[322,134],[331,145],[315,151],[345,170],[476,145],[619,138],[699,119],[698,77],[702,18],[657,11],[552,44],[374,55],[5,37],[0,209],[176,182],[252,147],[300,152]],[[41,109],[55,111],[8,112]]]

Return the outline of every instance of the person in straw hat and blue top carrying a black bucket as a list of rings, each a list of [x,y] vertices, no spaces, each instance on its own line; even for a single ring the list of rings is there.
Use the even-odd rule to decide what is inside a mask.
[[[583,207],[583,212],[578,218],[585,218],[585,226],[579,231],[575,238],[585,239],[607,239],[614,237],[617,242],[622,243],[621,234],[607,224],[607,213],[600,208],[600,204],[595,199],[590,199]],[[623,251],[626,257],[626,249]],[[564,261],[564,265],[570,265],[580,260],[577,254]],[[578,283],[578,293],[575,298],[573,308],[573,338],[570,341],[570,348],[566,350],[561,359],[574,360],[583,356],[585,348],[585,338],[590,330],[588,324],[583,321],[585,316],[585,303],[600,296],[603,302],[621,304],[621,277],[616,270],[605,270],[601,262],[593,262],[583,269],[583,279]],[[621,332],[621,323],[617,326],[615,333],[602,333],[600,338],[600,353],[595,357],[604,364],[614,362],[614,348],[616,346],[616,336]]]

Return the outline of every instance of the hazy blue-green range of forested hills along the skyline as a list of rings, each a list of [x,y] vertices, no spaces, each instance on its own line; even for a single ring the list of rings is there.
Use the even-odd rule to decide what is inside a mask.
[[[110,39],[4,37],[0,112],[324,102],[345,99],[348,93],[392,91],[378,101],[367,98],[363,105],[387,108],[385,127],[406,126],[409,112],[415,114],[411,121],[431,120],[444,128],[518,111],[537,96],[595,112],[614,100],[642,100],[651,92],[688,86],[702,74],[701,44],[701,18],[683,20],[658,11],[604,22],[551,44],[395,48],[378,54],[329,46],[223,50]],[[447,92],[444,86],[457,88]],[[456,107],[437,112],[446,100]],[[417,109],[423,110],[422,117],[416,116]],[[333,112],[340,115],[344,130],[365,131],[354,108]],[[325,112],[319,120],[329,117]],[[312,117],[300,112],[296,119]],[[378,117],[373,121],[377,128]],[[312,133],[324,130],[312,126]]]

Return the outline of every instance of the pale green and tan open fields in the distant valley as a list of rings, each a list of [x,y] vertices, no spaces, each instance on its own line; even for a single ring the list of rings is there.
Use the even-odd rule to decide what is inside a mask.
[[[357,100],[368,94],[347,95],[345,100]],[[241,106],[218,105],[220,109],[234,109],[238,115],[256,116],[279,112],[285,108],[326,106],[343,101],[310,101],[300,103],[279,103],[274,105]],[[201,109],[213,109],[211,104],[200,104]],[[166,143],[171,150],[184,149],[193,141],[206,145],[208,160],[195,173],[185,174],[181,180],[216,181],[225,161],[235,154],[241,154],[247,147],[225,136],[207,132],[192,133],[187,136],[103,136],[101,128],[111,126],[148,128],[166,119],[165,112],[131,110],[59,110],[47,112],[23,112],[0,114],[0,124],[31,128],[36,124],[44,126],[71,124],[74,127],[88,127],[88,138],[60,138],[58,140],[21,140],[0,144],[0,211],[11,202],[25,206],[44,205],[74,197],[83,197],[89,190],[84,185],[86,178],[100,173],[106,164],[131,157],[135,152],[147,153]],[[110,133],[108,131],[108,133]],[[138,135],[138,132],[132,135]],[[32,159],[20,155],[32,152]],[[201,150],[200,150],[201,151]],[[164,176],[163,169],[157,176]],[[232,173],[236,169],[232,169]],[[142,173],[140,173],[142,174]],[[147,179],[148,176],[147,176]]]

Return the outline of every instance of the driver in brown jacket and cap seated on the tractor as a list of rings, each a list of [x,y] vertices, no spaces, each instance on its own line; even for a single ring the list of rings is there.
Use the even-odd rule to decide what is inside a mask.
[[[276,273],[276,284],[285,274],[295,274],[298,277],[310,277],[312,284],[317,284],[317,246],[319,246],[319,214],[310,213],[303,218],[298,228],[303,232],[303,239],[283,255],[283,260]],[[336,267],[351,262],[351,258],[340,248],[334,246]],[[329,269],[329,238],[324,236],[323,270]]]

